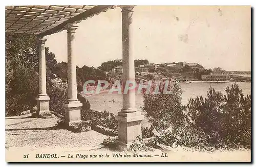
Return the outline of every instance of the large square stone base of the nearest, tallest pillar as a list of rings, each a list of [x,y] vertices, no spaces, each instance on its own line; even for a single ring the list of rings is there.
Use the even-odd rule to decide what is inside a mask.
[[[141,137],[141,122],[144,115],[141,115],[140,111],[118,112],[115,119],[118,121],[118,148],[124,150],[137,136]]]

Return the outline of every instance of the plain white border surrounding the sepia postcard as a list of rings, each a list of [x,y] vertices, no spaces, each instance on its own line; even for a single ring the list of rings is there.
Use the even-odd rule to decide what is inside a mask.
[[[23,0],[23,1],[20,1],[20,0],[12,0],[12,1],[1,1],[1,11],[3,12],[2,15],[1,15],[1,24],[2,26],[0,27],[1,28],[1,32],[3,34],[2,38],[1,38],[1,65],[0,65],[0,68],[1,68],[1,79],[2,79],[2,82],[0,82],[1,84],[1,112],[2,112],[2,121],[1,121],[1,133],[2,133],[2,137],[1,137],[1,166],[7,166],[8,164],[5,162],[5,83],[4,83],[4,79],[5,79],[5,17],[4,17],[4,6],[6,5],[50,5],[50,4],[58,4],[58,5],[84,5],[84,4],[91,4],[91,5],[251,5],[252,7],[256,7],[256,1],[255,0],[232,0],[232,1],[224,1],[224,0],[207,0],[207,1],[203,1],[203,0],[178,0],[178,1],[164,1],[164,0],[157,0],[157,1],[152,1],[152,0],[147,0],[147,1],[138,1],[138,0],[130,0],[130,1],[113,1],[113,0],[110,0],[110,1],[78,1],[78,0],[72,0],[72,1],[63,1],[63,0],[55,0],[54,3],[52,0],[44,0],[44,1],[32,1],[32,0]],[[255,11],[254,11],[254,14],[255,14]],[[255,17],[253,19],[253,21],[255,22]],[[253,28],[253,30],[255,30],[255,27]],[[255,44],[253,44],[253,46],[255,46]],[[252,47],[253,47],[252,46]],[[255,64],[255,58],[254,58],[254,61],[253,61],[253,64]],[[252,71],[254,71],[254,67],[251,68]],[[255,77],[255,74],[252,76],[253,78]],[[252,82],[253,83],[253,82]],[[255,86],[253,84],[253,86]],[[254,89],[253,89],[254,90]],[[254,94],[254,91],[252,92]],[[253,102],[254,102],[254,98],[253,98]],[[252,103],[253,103],[252,102]],[[254,103],[255,104],[255,103]],[[253,120],[255,121],[255,113],[253,114]],[[253,128],[253,134],[255,134],[255,129]],[[254,142],[254,145],[255,145],[255,142]],[[253,145],[253,146],[254,146]],[[253,148],[254,149],[254,148]],[[253,154],[252,154],[253,155]],[[253,159],[253,157],[251,157]],[[69,164],[69,163],[66,163],[66,164]],[[216,163],[215,163],[216,164]],[[28,164],[19,164],[19,165],[22,165],[22,166],[27,166]],[[56,164],[52,163],[52,164],[44,164],[44,163],[40,163],[40,164],[30,164],[30,165],[36,165],[36,166],[54,166]],[[58,165],[65,165],[65,163],[60,163]],[[71,164],[72,166],[74,164]],[[77,164],[76,164],[77,165]],[[87,164],[87,163],[83,163],[83,164],[79,164],[79,165],[86,165],[86,166],[95,166],[95,165],[99,165],[99,164]],[[120,165],[120,164],[100,164],[100,165]],[[124,166],[126,166],[127,164],[122,164]],[[136,164],[130,164],[130,165],[136,165]],[[149,165],[148,163],[147,164],[139,164],[139,165]],[[159,164],[153,164],[153,165],[159,165]],[[171,164],[171,163],[165,163],[164,165],[177,165],[177,164]],[[193,165],[197,165],[197,164],[193,164]],[[205,164],[202,164],[202,165],[205,165]],[[222,166],[223,164],[217,164],[218,166]],[[234,165],[234,164],[230,164],[230,165]],[[241,165],[241,164],[239,164]]]

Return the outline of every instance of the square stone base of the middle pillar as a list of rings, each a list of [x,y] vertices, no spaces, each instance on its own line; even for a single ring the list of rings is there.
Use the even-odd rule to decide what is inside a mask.
[[[63,103],[65,107],[65,124],[70,126],[73,123],[81,121],[81,106],[80,101],[68,101]]]

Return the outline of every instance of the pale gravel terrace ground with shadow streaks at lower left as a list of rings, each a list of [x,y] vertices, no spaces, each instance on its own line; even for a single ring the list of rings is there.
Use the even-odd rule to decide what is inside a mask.
[[[105,136],[94,130],[74,133],[55,126],[58,118],[33,118],[31,114],[6,117],[6,149],[26,147],[39,148],[95,149],[102,147]]]

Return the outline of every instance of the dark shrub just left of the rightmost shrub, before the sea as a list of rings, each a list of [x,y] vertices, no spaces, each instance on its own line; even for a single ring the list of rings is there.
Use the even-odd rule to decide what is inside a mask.
[[[209,88],[207,98],[190,98],[187,104],[188,114],[195,126],[201,128],[206,134],[211,136],[211,142],[220,142],[223,131],[222,113],[224,105],[223,94]]]

